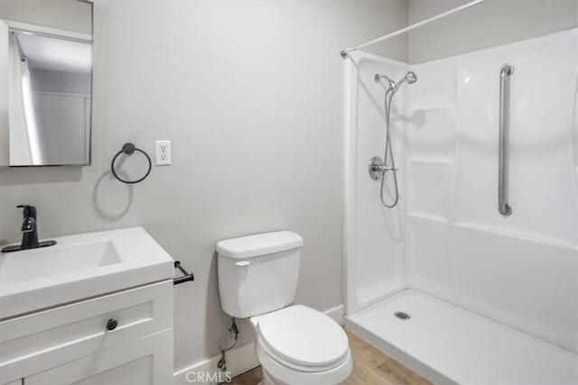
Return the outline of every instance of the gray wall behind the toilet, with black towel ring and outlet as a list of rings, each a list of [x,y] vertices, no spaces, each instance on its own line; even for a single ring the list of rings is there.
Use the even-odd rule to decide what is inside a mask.
[[[0,170],[0,242],[39,208],[43,238],[143,225],[196,280],[175,288],[176,366],[218,353],[219,239],[294,230],[297,302],[342,303],[345,46],[406,25],[405,0],[102,1],[95,5],[93,164]],[[406,43],[378,50],[406,59]],[[170,167],[111,179],[124,142]],[[126,160],[133,177],[144,160]],[[243,340],[250,337],[243,325]]]

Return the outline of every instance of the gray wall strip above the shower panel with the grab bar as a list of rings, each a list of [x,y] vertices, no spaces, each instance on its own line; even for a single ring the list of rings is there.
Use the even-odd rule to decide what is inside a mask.
[[[469,0],[470,1],[470,0]],[[409,23],[467,3],[409,0]],[[410,63],[521,41],[578,25],[577,0],[487,0],[409,33]]]

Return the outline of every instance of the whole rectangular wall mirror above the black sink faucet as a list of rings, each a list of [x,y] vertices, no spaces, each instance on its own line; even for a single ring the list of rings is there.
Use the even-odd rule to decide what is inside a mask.
[[[0,2],[0,165],[89,165],[92,5],[38,3]]]

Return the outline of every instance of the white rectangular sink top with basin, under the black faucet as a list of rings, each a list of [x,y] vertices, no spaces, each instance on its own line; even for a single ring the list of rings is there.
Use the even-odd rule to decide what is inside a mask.
[[[0,252],[0,319],[171,279],[172,258],[142,227]]]

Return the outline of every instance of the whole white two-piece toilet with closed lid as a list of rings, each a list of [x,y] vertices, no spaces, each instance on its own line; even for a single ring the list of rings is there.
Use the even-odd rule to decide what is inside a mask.
[[[217,243],[221,306],[229,316],[250,318],[263,385],[334,385],[351,372],[340,325],[311,307],[291,305],[302,246],[303,238],[288,231]]]

